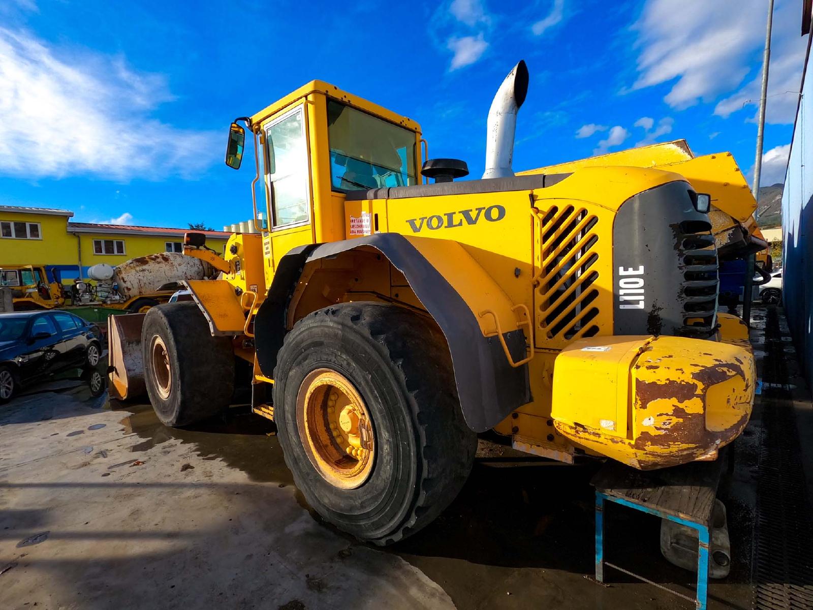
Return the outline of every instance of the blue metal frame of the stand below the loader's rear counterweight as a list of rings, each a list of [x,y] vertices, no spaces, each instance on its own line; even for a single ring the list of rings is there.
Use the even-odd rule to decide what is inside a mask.
[[[609,561],[604,560],[604,502],[608,500],[610,502],[615,502],[621,504],[622,506],[626,506],[628,508],[634,508],[637,511],[648,512],[650,515],[659,516],[661,519],[668,519],[669,521],[675,521],[676,523],[680,523],[680,525],[687,525],[690,528],[698,530],[698,541],[699,541],[699,549],[698,549],[698,590],[697,596],[695,599],[690,598],[688,595],[683,595],[682,593],[669,589],[666,586],[663,586],[657,582],[652,582],[647,578],[641,577],[638,574],[629,572],[628,570],[621,568],[620,566],[611,564]],[[693,602],[699,610],[706,610],[706,597],[708,594],[708,574],[709,574],[709,528],[708,525],[702,523],[696,523],[694,521],[688,521],[686,519],[681,519],[678,516],[667,515],[665,512],[661,512],[654,508],[649,508],[643,506],[641,504],[637,504],[634,502],[630,502],[626,499],[615,498],[610,495],[602,494],[600,491],[596,491],[596,580],[598,582],[604,582],[604,566],[607,565],[613,569],[617,569],[620,572],[628,574],[629,576],[635,577],[638,580],[643,582],[647,582],[650,585],[657,586],[661,590],[665,590],[672,595],[677,595],[680,598],[686,599],[689,602]]]

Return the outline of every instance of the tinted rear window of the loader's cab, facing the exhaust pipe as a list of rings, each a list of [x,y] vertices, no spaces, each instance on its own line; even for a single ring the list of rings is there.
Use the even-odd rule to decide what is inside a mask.
[[[328,100],[333,190],[407,186],[415,181],[415,132]]]

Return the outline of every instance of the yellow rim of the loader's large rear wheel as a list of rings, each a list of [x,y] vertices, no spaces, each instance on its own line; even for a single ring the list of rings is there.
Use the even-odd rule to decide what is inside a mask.
[[[367,481],[376,456],[372,419],[346,377],[329,368],[310,373],[297,396],[302,447],[328,483],[352,490]]]

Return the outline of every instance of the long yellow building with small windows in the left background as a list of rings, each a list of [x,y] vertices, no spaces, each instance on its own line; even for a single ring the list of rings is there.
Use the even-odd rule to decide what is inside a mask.
[[[189,229],[70,222],[73,212],[48,207],[0,206],[0,268],[42,265],[54,281],[86,277],[94,264],[113,267],[137,256],[180,252]],[[203,231],[207,246],[223,251],[231,233]]]

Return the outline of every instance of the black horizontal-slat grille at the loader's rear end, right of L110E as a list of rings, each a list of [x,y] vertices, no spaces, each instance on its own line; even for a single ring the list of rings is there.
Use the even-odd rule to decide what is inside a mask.
[[[683,328],[689,337],[708,337],[715,330],[717,275],[715,238],[709,232],[711,224],[702,220],[681,222],[680,265],[683,271]]]

